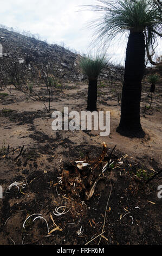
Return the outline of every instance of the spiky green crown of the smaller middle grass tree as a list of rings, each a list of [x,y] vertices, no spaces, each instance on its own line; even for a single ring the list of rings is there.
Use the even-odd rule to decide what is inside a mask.
[[[89,80],[96,80],[100,75],[102,69],[107,66],[108,60],[105,54],[91,54],[87,53],[80,60],[80,66],[83,73]]]

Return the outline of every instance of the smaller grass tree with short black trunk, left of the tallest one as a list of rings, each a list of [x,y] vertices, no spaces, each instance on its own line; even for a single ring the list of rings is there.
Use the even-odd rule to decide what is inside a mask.
[[[83,73],[88,77],[88,100],[87,110],[97,110],[98,76],[107,65],[105,54],[87,53],[80,60]]]

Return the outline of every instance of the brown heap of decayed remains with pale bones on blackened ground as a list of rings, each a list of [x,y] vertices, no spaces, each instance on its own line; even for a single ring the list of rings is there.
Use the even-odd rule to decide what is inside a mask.
[[[104,159],[108,159],[104,162]],[[106,161],[106,160],[105,160]],[[95,191],[100,179],[105,179],[104,172],[111,168],[111,156],[107,156],[107,145],[103,143],[102,154],[95,159],[75,161],[62,169],[59,184],[62,190],[69,192],[80,200],[89,200]]]

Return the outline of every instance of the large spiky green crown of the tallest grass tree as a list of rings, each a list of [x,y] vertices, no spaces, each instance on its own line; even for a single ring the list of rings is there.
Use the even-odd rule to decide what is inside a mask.
[[[87,5],[88,9],[103,15],[90,23],[95,28],[96,39],[112,40],[125,31],[146,32],[148,43],[161,35],[161,11],[153,0],[98,0],[97,5]]]

